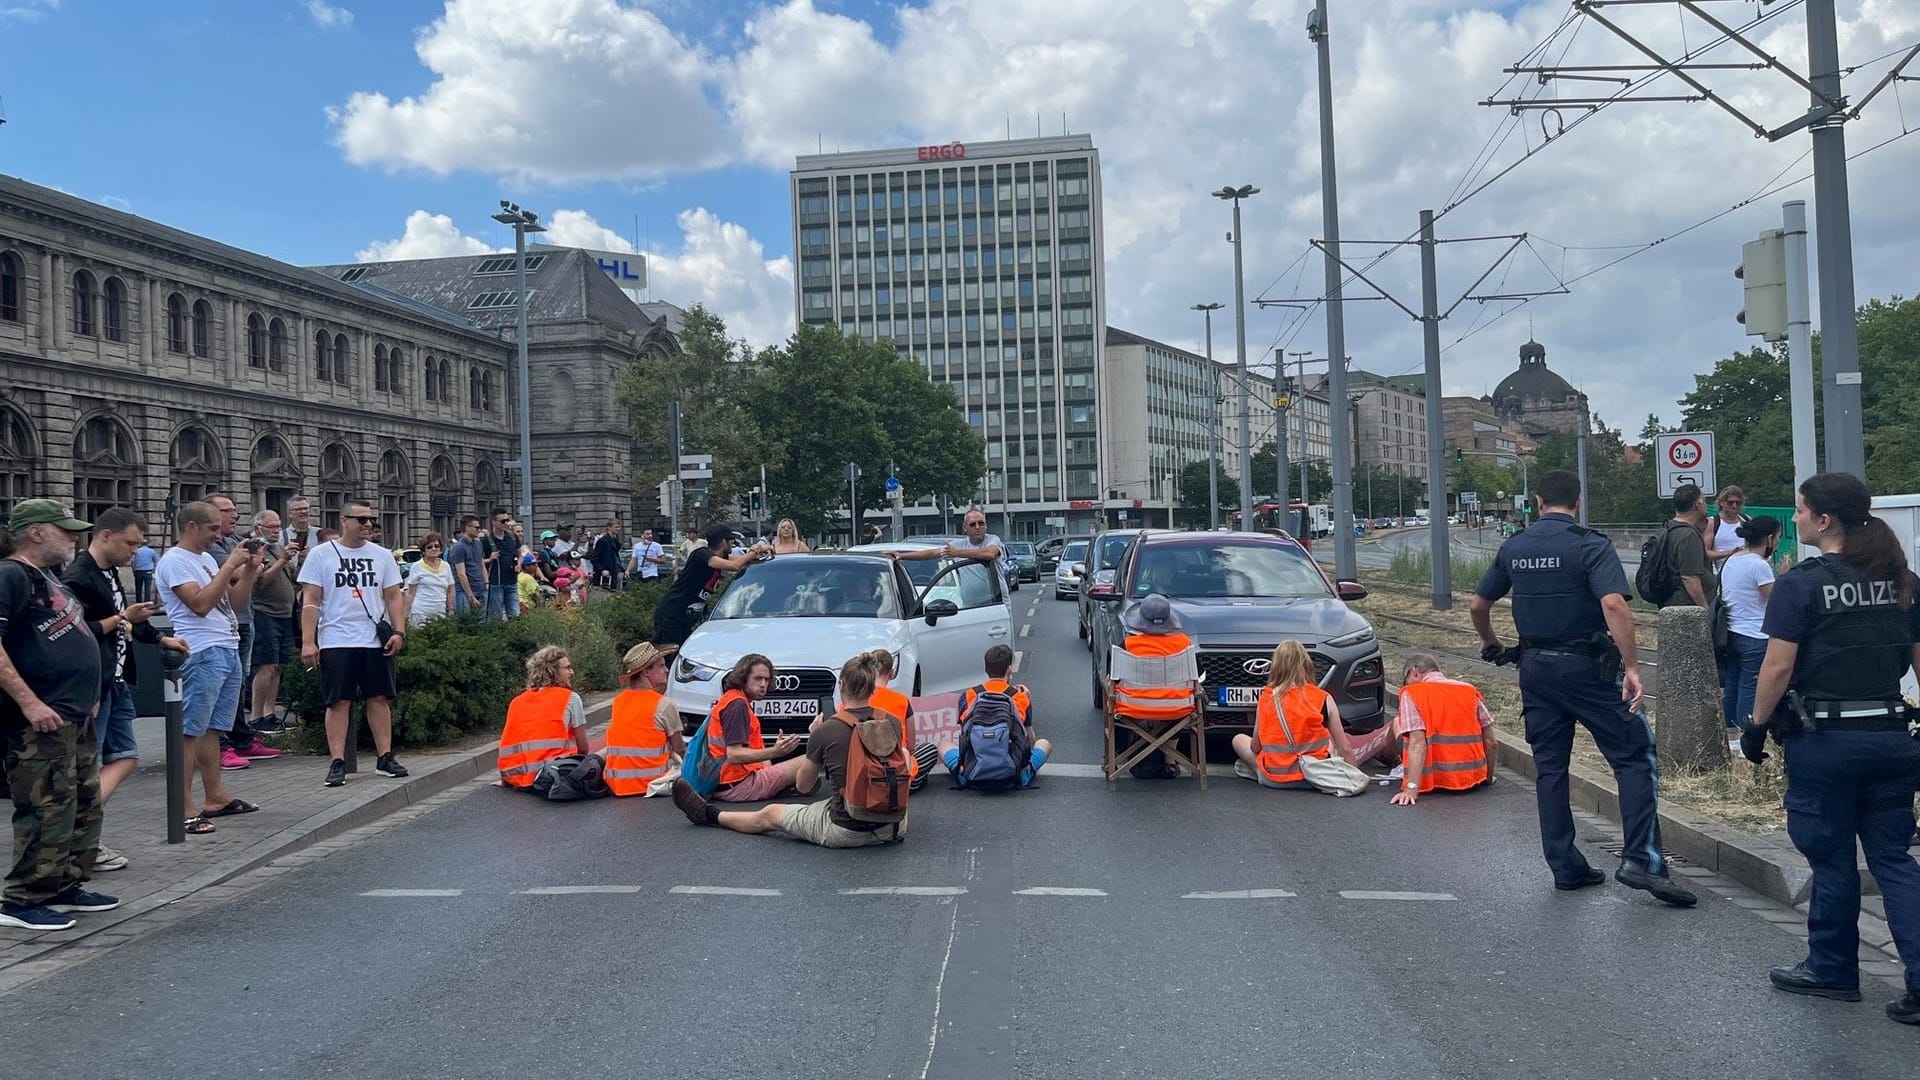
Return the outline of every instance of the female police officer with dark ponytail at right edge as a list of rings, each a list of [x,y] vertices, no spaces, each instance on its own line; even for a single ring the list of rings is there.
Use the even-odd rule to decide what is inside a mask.
[[[1887,1017],[1920,1024],[1920,863],[1907,851],[1920,742],[1908,738],[1901,700],[1901,675],[1920,665],[1920,582],[1868,505],[1866,484],[1849,473],[1801,484],[1793,525],[1820,557],[1774,582],[1766,659],[1740,744],[1755,763],[1766,757],[1768,730],[1786,748],[1788,836],[1812,867],[1807,959],[1768,978],[1789,994],[1860,999],[1859,838],[1907,963],[1907,995]]]

